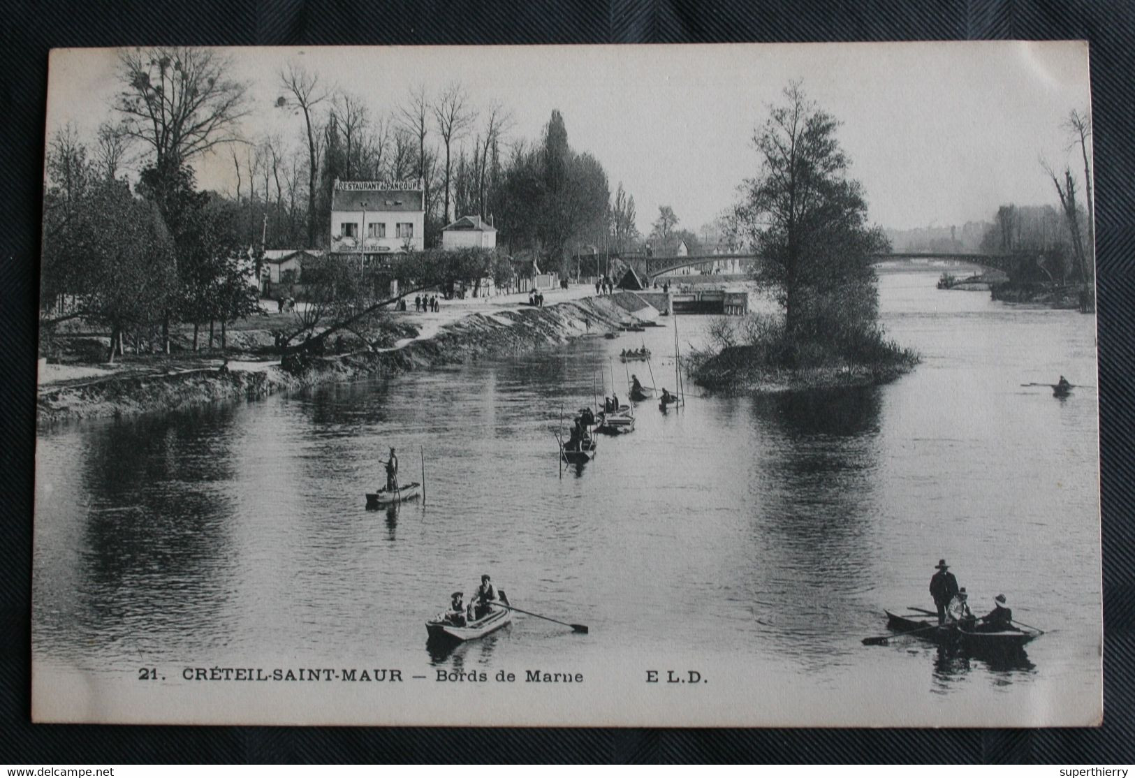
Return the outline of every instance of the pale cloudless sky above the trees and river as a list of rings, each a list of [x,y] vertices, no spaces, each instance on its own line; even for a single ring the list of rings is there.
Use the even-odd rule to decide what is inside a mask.
[[[754,130],[782,90],[842,121],[838,138],[863,183],[869,220],[893,229],[990,220],[998,206],[1056,201],[1041,158],[1081,170],[1061,127],[1088,107],[1084,42],[806,43],[607,46],[225,49],[250,84],[243,134],[302,146],[303,118],[274,108],[279,71],[302,62],[321,81],[390,115],[407,91],[460,82],[476,107],[512,113],[506,139],[536,141],[554,109],[569,143],[622,181],[648,234],[661,205],[698,231],[759,172]],[[93,139],[115,120],[117,53],[51,54],[47,130],[74,122]],[[438,141],[436,132],[432,134]],[[471,142],[471,137],[469,142]],[[204,188],[235,191],[227,150],[193,160]]]

